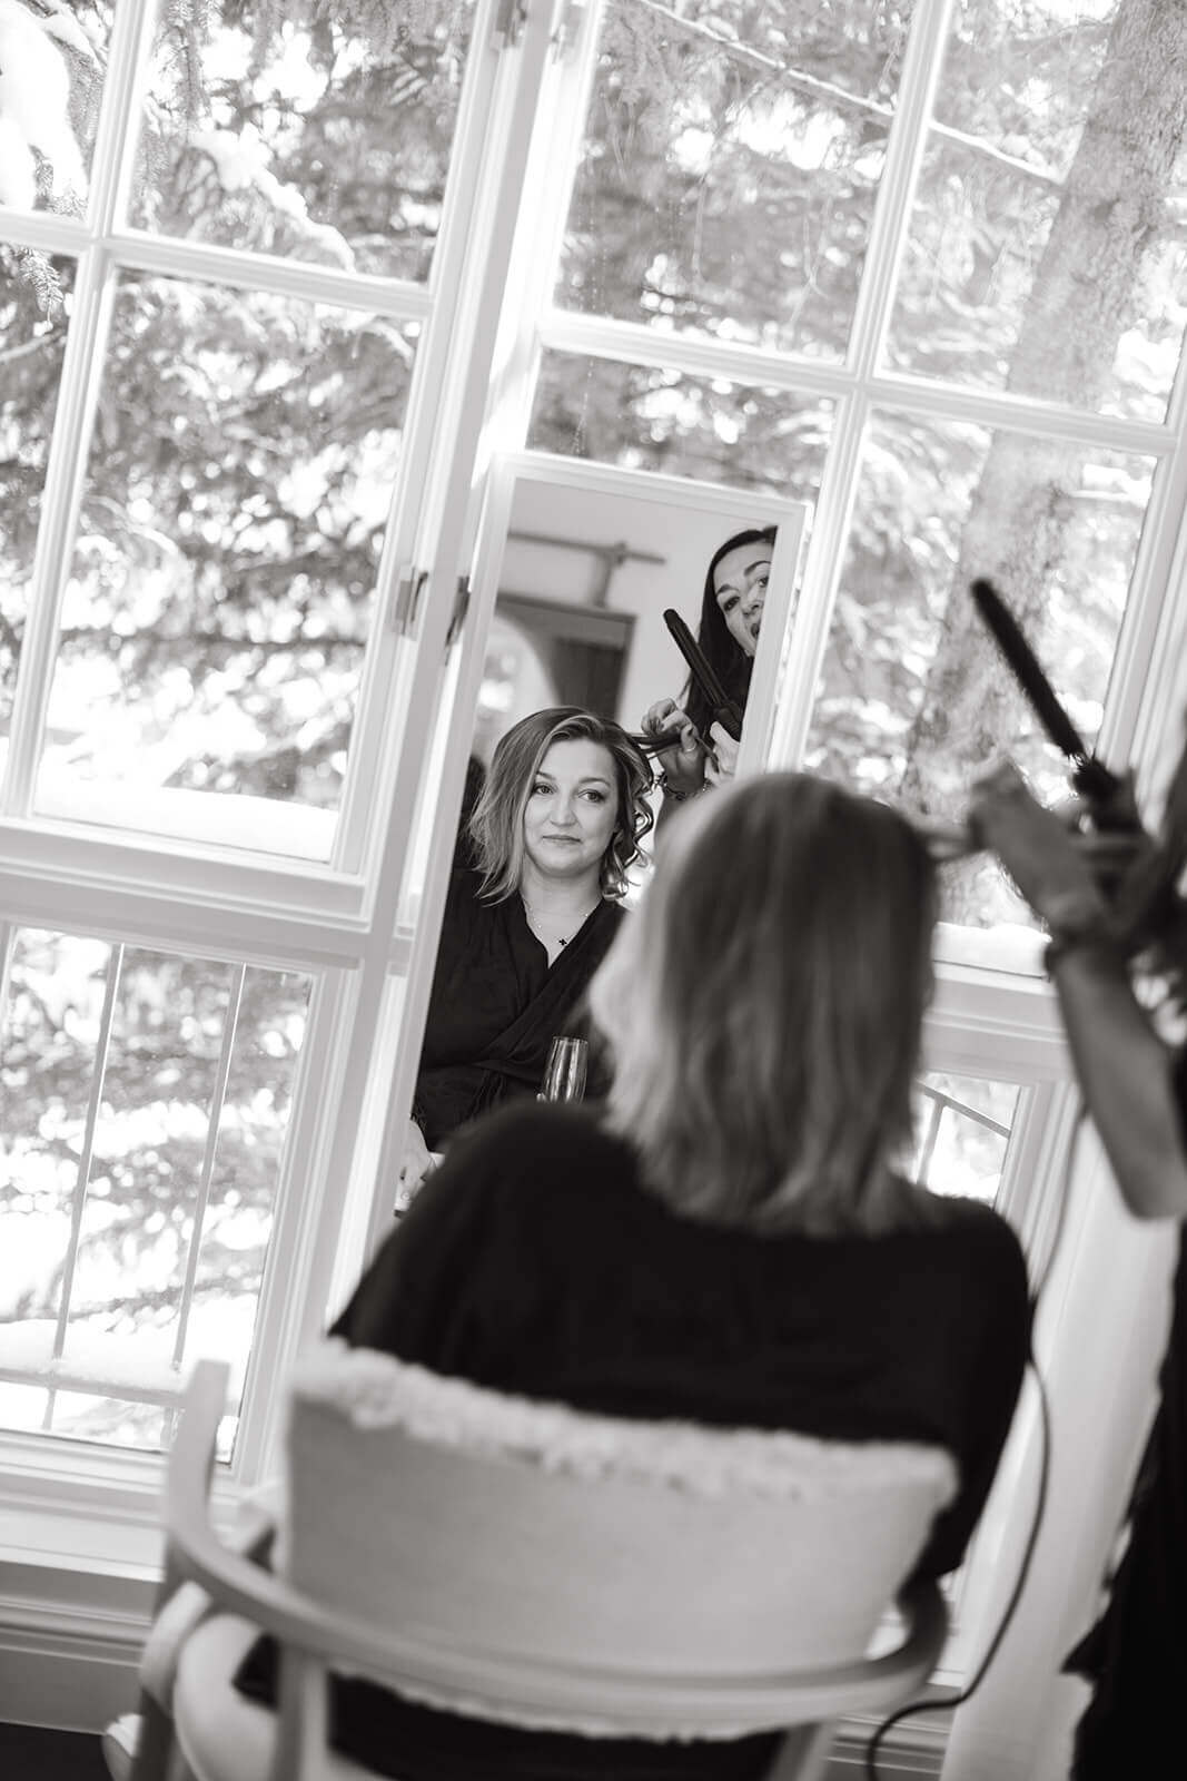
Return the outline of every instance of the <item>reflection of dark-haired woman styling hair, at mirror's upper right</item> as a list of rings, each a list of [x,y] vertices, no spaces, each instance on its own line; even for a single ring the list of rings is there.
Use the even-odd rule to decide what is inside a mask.
[[[742,707],[758,648],[774,538],[774,525],[735,533],[714,550],[705,572],[696,641],[728,696]],[[721,723],[714,723],[708,700],[696,680],[689,680],[680,703],[658,698],[650,705],[642,714],[642,730],[646,736],[680,732],[680,741],[658,755],[664,810],[683,803],[705,785],[733,778],[739,744]]]

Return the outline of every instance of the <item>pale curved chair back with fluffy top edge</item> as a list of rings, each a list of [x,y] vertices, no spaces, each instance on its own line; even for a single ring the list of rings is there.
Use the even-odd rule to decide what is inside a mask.
[[[936,1448],[591,1416],[329,1341],[292,1384],[278,1569],[399,1626],[438,1704],[753,1729],[792,1674],[828,1704],[954,1489]]]

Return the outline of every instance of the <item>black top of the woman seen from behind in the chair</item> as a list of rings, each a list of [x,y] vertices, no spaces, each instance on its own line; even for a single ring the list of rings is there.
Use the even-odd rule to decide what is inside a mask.
[[[673,1215],[584,1108],[504,1108],[461,1138],[335,1334],[480,1386],[618,1416],[938,1443],[961,1489],[920,1576],[982,1509],[1029,1352],[1021,1250],[945,1200],[879,1238],[756,1236]],[[776,1738],[648,1745],[527,1733],[343,1683],[340,1747],[404,1781],[762,1776]],[[477,1767],[475,1767],[477,1765]]]

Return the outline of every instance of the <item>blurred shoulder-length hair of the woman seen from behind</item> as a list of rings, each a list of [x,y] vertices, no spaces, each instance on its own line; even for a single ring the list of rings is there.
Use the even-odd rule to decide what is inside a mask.
[[[900,1218],[934,923],[924,841],[826,780],[762,775],[673,823],[589,992],[646,1184],[769,1231]]]

